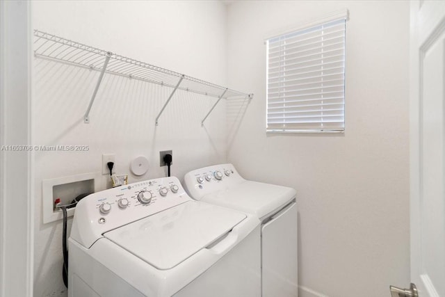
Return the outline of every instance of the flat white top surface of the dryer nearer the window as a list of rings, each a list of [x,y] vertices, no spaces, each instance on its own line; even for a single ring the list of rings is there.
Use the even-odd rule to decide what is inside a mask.
[[[286,186],[243,181],[223,191],[204,195],[201,201],[255,214],[262,220],[288,204],[296,193]]]

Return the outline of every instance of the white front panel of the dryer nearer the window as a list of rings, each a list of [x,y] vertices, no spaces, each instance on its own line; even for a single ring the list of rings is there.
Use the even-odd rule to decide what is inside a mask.
[[[298,296],[297,205],[292,202],[261,230],[262,297]]]

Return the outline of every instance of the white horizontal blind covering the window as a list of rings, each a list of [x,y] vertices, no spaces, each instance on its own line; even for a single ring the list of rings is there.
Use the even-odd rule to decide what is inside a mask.
[[[343,131],[346,20],[266,41],[268,132]]]

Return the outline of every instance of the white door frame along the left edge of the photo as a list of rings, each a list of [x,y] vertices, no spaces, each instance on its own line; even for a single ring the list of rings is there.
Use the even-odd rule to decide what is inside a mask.
[[[31,145],[29,1],[0,1],[0,147]],[[0,150],[0,297],[33,296],[33,152]]]

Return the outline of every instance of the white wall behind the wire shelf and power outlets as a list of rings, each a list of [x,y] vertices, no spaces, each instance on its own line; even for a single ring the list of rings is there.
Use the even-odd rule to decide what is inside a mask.
[[[35,1],[35,29],[225,85],[226,8],[219,1]],[[35,154],[34,296],[66,296],[61,279],[61,222],[42,223],[42,179],[102,170],[102,153],[116,154],[129,182],[165,176],[159,151],[173,150],[172,175],[226,160],[225,104],[200,121],[216,99],[178,91],[154,126],[171,88],[105,75],[83,123],[98,77],[35,59],[35,145],[89,145],[88,152]],[[149,171],[129,172],[143,154]],[[110,186],[102,176],[100,188]],[[50,198],[51,199],[51,198]]]

